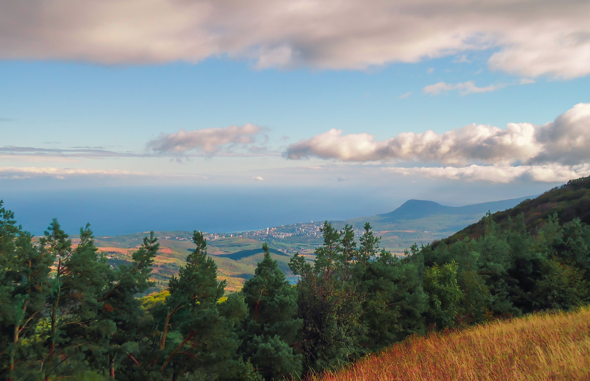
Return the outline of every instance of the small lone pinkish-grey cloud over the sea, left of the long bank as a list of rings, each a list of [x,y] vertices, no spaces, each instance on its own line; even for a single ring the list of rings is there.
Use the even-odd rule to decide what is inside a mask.
[[[172,134],[161,134],[148,143],[152,151],[182,154],[197,150],[206,154],[217,153],[223,147],[240,146],[254,148],[256,135],[263,131],[254,124],[230,127],[204,128],[203,130],[180,130]]]

